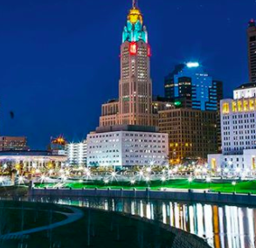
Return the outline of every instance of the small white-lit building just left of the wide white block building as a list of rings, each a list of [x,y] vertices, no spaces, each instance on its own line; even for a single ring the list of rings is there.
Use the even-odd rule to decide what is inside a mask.
[[[86,166],[87,141],[68,143],[66,145],[67,162],[70,165]]]

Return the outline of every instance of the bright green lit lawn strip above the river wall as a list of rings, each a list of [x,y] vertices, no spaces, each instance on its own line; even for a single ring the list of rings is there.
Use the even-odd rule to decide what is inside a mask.
[[[38,183],[36,187],[53,187],[54,183]],[[211,189],[214,192],[225,192],[225,193],[253,193],[256,194],[256,181],[237,181],[236,185],[232,185],[231,181],[213,181],[211,183],[206,183],[203,181],[193,181],[189,183],[186,179],[176,179],[169,180],[166,182],[154,181],[150,183],[138,182],[134,185],[128,182],[111,182],[105,184],[103,182],[88,182],[88,183],[65,183],[64,187],[72,189],[146,189],[150,187],[153,190],[159,190],[161,188],[170,188],[170,189]]]

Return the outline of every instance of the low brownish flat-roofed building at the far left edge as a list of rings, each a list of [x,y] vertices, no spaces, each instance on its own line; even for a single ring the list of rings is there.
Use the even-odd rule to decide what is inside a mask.
[[[0,151],[22,151],[28,149],[26,137],[0,137]]]

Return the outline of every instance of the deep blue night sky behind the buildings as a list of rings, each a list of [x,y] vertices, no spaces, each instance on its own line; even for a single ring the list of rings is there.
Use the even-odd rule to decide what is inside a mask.
[[[0,2],[0,134],[70,141],[99,124],[100,104],[118,95],[121,31],[131,0]],[[179,62],[197,59],[225,82],[248,80],[246,26],[254,0],[140,0],[152,47],[154,94]],[[10,111],[15,118],[10,119]]]

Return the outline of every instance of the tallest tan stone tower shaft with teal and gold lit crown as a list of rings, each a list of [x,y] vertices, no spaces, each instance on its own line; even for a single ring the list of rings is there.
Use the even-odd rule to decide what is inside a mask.
[[[119,124],[152,125],[150,55],[148,32],[134,0],[122,33]]]

